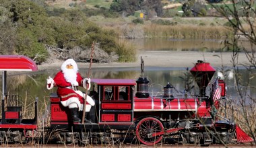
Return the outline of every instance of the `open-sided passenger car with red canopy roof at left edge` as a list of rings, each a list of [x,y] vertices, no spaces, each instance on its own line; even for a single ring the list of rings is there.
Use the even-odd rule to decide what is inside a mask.
[[[36,63],[25,56],[0,55],[2,71],[2,102],[0,119],[0,143],[4,141],[20,142],[34,137],[37,130],[37,100],[35,102],[34,119],[22,118],[21,98],[15,94],[7,94],[7,71],[37,71]]]

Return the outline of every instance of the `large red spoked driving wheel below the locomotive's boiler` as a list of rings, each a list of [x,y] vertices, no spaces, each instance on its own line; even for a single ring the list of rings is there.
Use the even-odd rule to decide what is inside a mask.
[[[164,126],[160,120],[147,117],[137,123],[136,136],[139,141],[145,145],[155,145],[162,140],[162,135],[152,137],[153,133],[164,131]]]

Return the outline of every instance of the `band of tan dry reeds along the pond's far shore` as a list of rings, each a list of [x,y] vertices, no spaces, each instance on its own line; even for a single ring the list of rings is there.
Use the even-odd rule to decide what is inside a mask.
[[[98,16],[99,17],[99,16]],[[223,36],[231,36],[229,29],[217,25],[218,20],[186,20],[173,18],[170,22],[174,25],[153,24],[150,20],[143,20],[144,24],[133,24],[133,17],[117,19],[96,19],[90,17],[92,22],[106,30],[115,30],[119,38],[193,38],[193,39],[219,39]],[[102,22],[104,20],[105,22]]]

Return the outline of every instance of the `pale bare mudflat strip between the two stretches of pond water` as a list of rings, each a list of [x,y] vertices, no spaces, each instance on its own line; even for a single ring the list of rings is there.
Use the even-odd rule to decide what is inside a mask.
[[[213,67],[231,67],[232,52],[196,52],[196,51],[137,51],[135,63],[93,63],[92,68],[108,67],[140,67],[141,57],[145,67],[193,67],[197,60],[210,63]],[[239,53],[238,64],[247,64],[247,57]],[[60,69],[61,63],[44,63],[38,65],[38,70]],[[88,68],[90,63],[77,63],[79,68]]]

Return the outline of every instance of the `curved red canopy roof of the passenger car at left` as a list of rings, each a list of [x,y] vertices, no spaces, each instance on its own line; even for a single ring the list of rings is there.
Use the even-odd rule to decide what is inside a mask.
[[[32,59],[23,55],[0,55],[0,71],[37,71]]]

